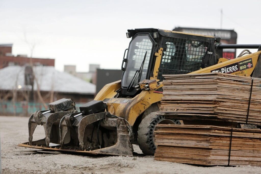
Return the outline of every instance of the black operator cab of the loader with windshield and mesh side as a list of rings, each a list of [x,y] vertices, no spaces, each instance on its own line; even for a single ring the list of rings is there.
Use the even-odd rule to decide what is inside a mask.
[[[140,81],[151,79],[154,68],[162,81],[163,74],[187,74],[217,63],[215,38],[154,28],[128,30],[132,38],[127,56],[122,61],[121,97],[134,97],[141,92]],[[159,67],[155,53],[163,48]],[[127,50],[127,49],[126,49]],[[154,77],[155,79],[155,77]]]

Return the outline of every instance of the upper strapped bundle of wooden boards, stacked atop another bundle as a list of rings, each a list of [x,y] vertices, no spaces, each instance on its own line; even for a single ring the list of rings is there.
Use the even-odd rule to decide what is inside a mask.
[[[164,76],[159,114],[167,118],[261,124],[261,79],[224,73]]]

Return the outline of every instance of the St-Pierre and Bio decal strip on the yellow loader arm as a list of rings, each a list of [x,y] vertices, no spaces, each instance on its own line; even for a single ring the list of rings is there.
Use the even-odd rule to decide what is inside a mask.
[[[212,70],[212,73],[226,73],[226,74],[231,74],[237,71],[242,71],[242,70],[246,70],[249,68],[253,67],[253,63],[252,63],[252,58],[241,61],[241,62],[237,62],[237,63],[233,63],[230,65],[227,65],[225,67],[221,67],[215,70]]]

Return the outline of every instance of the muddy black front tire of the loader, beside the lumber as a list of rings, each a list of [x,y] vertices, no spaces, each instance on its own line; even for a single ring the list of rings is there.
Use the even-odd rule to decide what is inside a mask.
[[[140,122],[137,141],[145,155],[154,155],[156,146],[153,140],[153,133],[155,126],[163,120],[165,120],[164,116],[157,115],[157,112],[152,112]],[[174,123],[180,124],[179,121],[174,121]]]

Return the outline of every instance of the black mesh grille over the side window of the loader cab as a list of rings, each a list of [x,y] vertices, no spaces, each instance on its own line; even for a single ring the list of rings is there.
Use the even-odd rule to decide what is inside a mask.
[[[205,41],[166,38],[158,79],[164,80],[163,74],[187,74],[199,70],[207,47]]]

